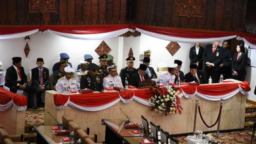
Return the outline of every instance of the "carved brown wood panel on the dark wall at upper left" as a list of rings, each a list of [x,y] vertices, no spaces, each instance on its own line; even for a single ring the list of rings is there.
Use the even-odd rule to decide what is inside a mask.
[[[29,0],[28,1],[28,12],[57,12],[57,1],[56,0]]]

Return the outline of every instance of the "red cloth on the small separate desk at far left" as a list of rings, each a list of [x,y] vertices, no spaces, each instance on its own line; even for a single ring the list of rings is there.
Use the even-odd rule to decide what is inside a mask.
[[[26,96],[20,96],[18,94],[9,92],[8,90],[5,90],[4,88],[0,87],[0,104],[5,105],[9,103],[11,100],[14,102],[15,105],[18,106],[27,105]]]

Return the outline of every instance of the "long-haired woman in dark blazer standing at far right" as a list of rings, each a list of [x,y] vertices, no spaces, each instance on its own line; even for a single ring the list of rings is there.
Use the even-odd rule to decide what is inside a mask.
[[[232,79],[244,81],[246,75],[246,60],[247,56],[245,54],[244,45],[237,45],[236,53],[234,53],[232,59]]]

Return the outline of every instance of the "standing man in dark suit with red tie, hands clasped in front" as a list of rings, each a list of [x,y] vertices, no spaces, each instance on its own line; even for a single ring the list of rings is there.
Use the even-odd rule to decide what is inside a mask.
[[[219,41],[215,41],[213,45],[207,45],[203,52],[205,79],[209,79],[211,76],[213,83],[219,82],[221,76],[219,65],[221,64],[222,48],[219,43]]]

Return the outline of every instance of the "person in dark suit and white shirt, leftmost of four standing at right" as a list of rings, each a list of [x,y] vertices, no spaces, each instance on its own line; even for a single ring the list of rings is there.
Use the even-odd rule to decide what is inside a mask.
[[[195,63],[198,65],[198,70],[203,69],[203,47],[200,46],[200,43],[196,43],[195,46],[190,48],[189,59],[190,64]]]

